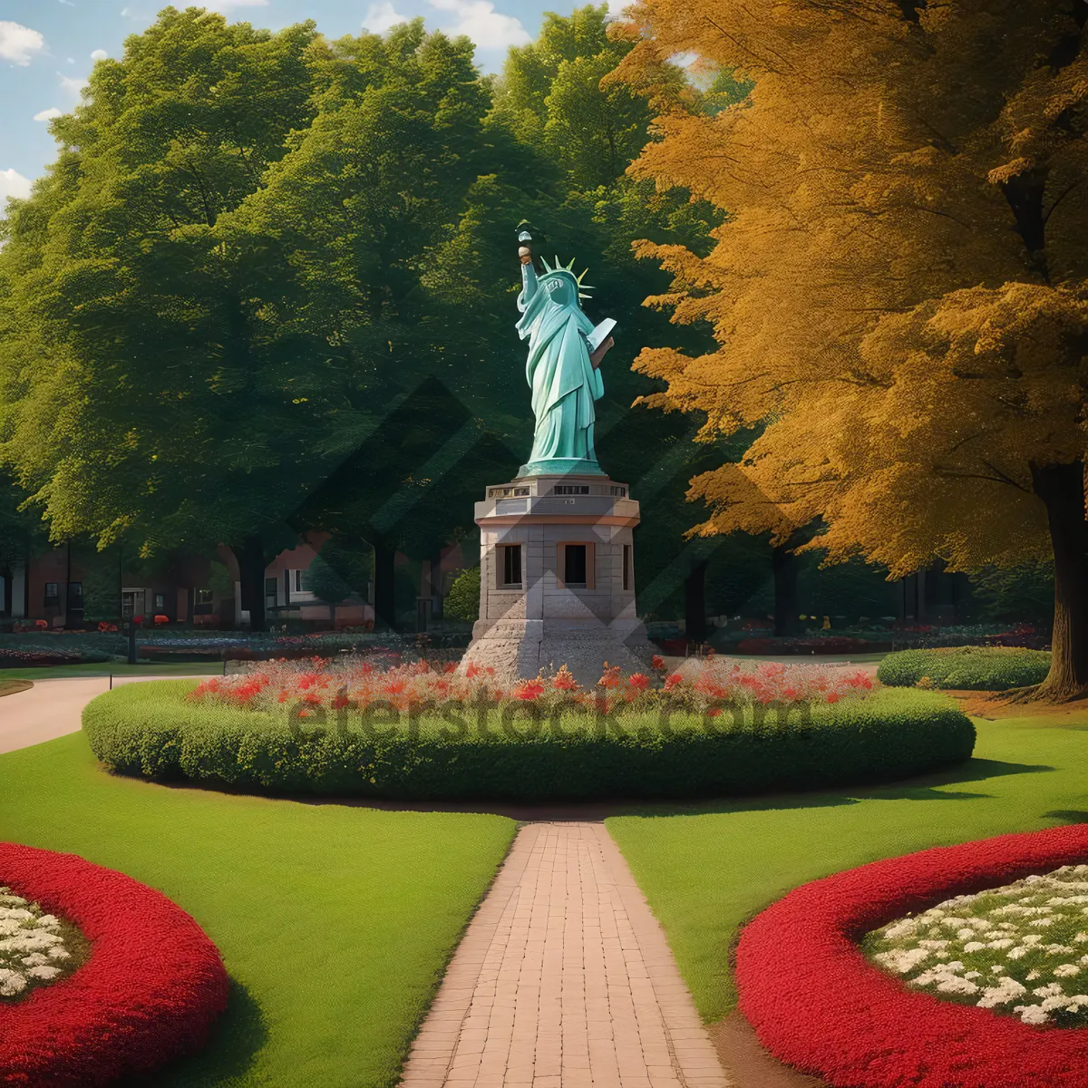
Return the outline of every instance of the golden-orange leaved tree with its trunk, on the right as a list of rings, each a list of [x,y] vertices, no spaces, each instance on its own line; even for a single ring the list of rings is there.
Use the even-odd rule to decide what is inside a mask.
[[[662,109],[633,170],[729,212],[647,299],[717,348],[644,350],[706,435],[764,424],[693,481],[697,531],[821,517],[811,545],[892,576],[1053,554],[1053,667],[1088,691],[1088,2],[642,0],[610,78],[663,58],[754,81]],[[652,87],[651,87],[652,92]]]

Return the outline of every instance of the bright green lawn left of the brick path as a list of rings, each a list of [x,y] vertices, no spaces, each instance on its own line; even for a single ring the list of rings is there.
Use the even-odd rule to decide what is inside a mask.
[[[82,733],[0,756],[0,840],[162,890],[223,953],[234,990],[215,1041],[156,1086],[393,1085],[514,831],[114,778]]]

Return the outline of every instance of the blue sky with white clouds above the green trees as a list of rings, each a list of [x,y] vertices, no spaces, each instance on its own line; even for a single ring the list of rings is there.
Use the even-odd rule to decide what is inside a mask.
[[[481,65],[495,71],[511,45],[529,41],[545,11],[568,14],[586,0],[208,0],[234,21],[279,29],[312,18],[329,37],[383,33],[422,15],[435,29],[468,34]],[[599,0],[598,0],[599,2]],[[628,2],[628,0],[623,0]],[[98,57],[154,21],[160,0],[0,0],[0,208],[26,196],[54,157],[50,116],[65,113]],[[175,7],[187,7],[175,0]],[[621,3],[613,0],[613,10]]]

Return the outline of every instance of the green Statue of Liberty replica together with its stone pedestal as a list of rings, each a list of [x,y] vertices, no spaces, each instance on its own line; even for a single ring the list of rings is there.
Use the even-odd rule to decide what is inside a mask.
[[[480,619],[462,668],[494,669],[496,683],[510,684],[566,665],[592,689],[606,664],[633,672],[652,653],[634,603],[639,504],[593,444],[616,322],[594,325],[582,311],[588,285],[573,261],[536,264],[539,231],[520,223],[517,239],[533,445],[518,475],[475,505]]]

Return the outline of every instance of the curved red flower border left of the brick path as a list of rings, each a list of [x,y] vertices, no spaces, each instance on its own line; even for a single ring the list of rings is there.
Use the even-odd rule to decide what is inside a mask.
[[[91,942],[73,975],[0,1003],[0,1085],[92,1088],[203,1046],[227,977],[181,907],[74,854],[12,843],[0,843],[0,883]]]

